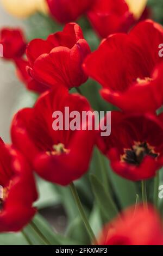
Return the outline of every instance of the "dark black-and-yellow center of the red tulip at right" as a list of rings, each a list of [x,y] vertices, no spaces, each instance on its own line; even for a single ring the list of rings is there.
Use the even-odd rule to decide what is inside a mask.
[[[121,161],[139,166],[147,155],[156,158],[159,156],[159,153],[155,153],[154,148],[147,142],[134,142],[134,145],[130,149],[124,149],[124,155],[121,156]]]

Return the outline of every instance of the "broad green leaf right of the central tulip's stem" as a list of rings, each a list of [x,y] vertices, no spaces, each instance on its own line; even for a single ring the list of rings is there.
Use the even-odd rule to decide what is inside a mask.
[[[95,198],[97,200],[98,206],[101,209],[105,220],[110,221],[118,214],[118,210],[114,201],[112,200],[110,193],[107,193],[105,187],[99,181],[95,175],[90,176],[91,185]]]

